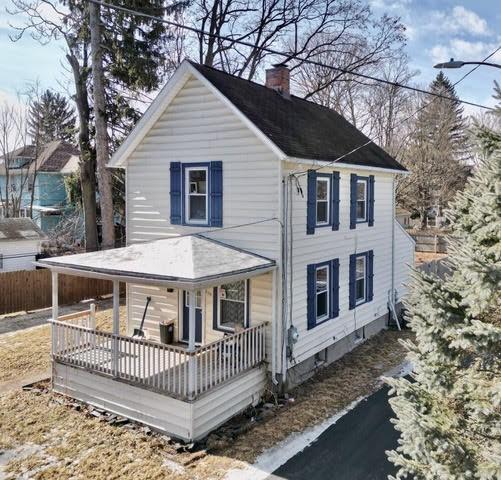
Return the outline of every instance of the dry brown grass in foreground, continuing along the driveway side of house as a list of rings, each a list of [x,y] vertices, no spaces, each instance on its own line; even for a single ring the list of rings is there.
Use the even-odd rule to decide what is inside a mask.
[[[380,375],[403,361],[405,352],[397,339],[408,336],[407,332],[387,331],[360,345],[295,389],[293,403],[210,453],[177,453],[161,436],[100,422],[61,405],[57,395],[23,391],[0,396],[0,448],[41,447],[8,464],[12,478],[31,470],[30,478],[55,480],[222,479],[229,469],[254,462],[290,434],[371,393]],[[164,465],[165,460],[175,462],[181,471]]]

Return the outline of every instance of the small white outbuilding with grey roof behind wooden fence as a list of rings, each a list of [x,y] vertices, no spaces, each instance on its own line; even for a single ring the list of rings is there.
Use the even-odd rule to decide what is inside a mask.
[[[30,218],[0,218],[0,273],[34,270],[44,238]]]

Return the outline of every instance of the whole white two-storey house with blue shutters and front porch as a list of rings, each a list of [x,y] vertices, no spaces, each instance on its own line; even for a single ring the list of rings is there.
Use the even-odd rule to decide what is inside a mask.
[[[111,160],[128,246],[40,262],[54,319],[58,273],[114,282],[113,334],[54,323],[54,389],[192,440],[385,328],[414,242],[406,170],[367,142],[285,66],[263,86],[183,62]]]

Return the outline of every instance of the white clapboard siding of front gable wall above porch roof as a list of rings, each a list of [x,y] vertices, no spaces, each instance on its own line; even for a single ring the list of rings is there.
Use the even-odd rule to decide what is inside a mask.
[[[279,160],[200,80],[190,77],[127,160],[127,240],[197,233],[170,225],[175,162],[223,162],[223,227],[279,217]],[[279,224],[211,233],[230,245],[277,259]]]

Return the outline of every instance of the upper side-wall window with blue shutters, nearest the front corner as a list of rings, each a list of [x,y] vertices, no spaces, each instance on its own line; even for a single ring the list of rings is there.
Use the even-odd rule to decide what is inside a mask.
[[[317,173],[308,170],[308,198],[306,207],[306,233],[315,228],[339,229],[339,172]]]

